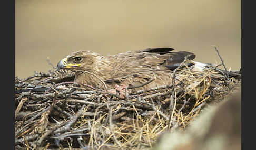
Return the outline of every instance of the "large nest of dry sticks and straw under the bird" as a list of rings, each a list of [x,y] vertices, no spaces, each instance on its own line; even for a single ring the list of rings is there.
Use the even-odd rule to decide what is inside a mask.
[[[241,86],[240,72],[212,67],[198,72],[178,67],[173,73],[183,80],[127,90],[124,99],[104,89],[81,88],[72,82],[74,74],[60,78],[50,71],[36,72],[24,80],[16,77],[15,147],[150,148],[159,135],[185,131],[205,105],[222,101]]]

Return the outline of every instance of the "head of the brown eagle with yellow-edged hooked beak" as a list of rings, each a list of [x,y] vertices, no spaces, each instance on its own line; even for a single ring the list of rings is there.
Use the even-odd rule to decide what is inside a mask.
[[[103,59],[103,57],[95,52],[76,51],[58,62],[57,70],[97,70],[97,61],[99,61],[100,59]]]

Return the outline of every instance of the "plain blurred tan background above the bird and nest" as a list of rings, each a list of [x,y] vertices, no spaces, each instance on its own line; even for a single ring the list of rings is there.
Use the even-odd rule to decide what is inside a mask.
[[[241,68],[241,1],[15,1],[15,76],[48,72],[69,53],[102,55],[155,47]]]

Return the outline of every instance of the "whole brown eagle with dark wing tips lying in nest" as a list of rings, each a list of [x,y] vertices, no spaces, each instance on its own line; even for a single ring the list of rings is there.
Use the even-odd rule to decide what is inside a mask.
[[[77,71],[74,82],[101,89],[104,89],[104,85],[93,74],[104,81],[108,89],[113,89],[116,84],[140,85],[155,78],[151,83],[135,90],[152,88],[170,84],[172,82],[170,69],[179,65],[186,55],[190,55],[189,60],[195,58],[191,52],[171,52],[172,50],[172,48],[149,48],[110,56],[102,56],[92,51],[77,51],[58,62],[57,69],[90,72]]]

